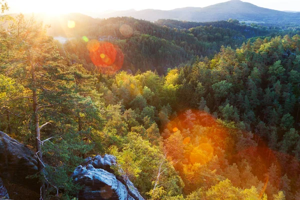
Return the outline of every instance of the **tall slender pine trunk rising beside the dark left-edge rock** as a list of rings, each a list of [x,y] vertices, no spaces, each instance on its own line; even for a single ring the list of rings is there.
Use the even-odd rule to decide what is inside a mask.
[[[29,62],[31,65],[31,78],[32,78],[32,108],[34,116],[34,132],[35,132],[35,146],[36,146],[36,155],[37,158],[37,170],[40,174],[43,175],[43,163],[42,163],[42,151],[41,151],[41,142],[40,142],[40,129],[39,129],[39,118],[38,118],[38,109],[37,109],[37,95],[36,95],[36,85],[35,85],[35,67],[32,63],[30,57]],[[45,186],[43,177],[40,178],[40,197],[45,199]]]

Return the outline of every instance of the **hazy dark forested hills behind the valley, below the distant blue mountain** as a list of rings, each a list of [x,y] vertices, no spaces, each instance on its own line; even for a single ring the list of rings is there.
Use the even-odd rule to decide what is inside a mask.
[[[61,20],[58,24],[65,24],[65,28],[52,27],[48,33],[70,38],[62,47],[75,55],[73,59],[87,69],[93,67],[89,65],[92,60],[85,48],[88,40],[108,41],[124,54],[122,68],[133,73],[139,69],[142,72],[156,70],[158,74],[163,74],[167,68],[188,63],[195,56],[212,58],[221,46],[235,49],[248,38],[299,33],[299,30],[292,28],[282,30],[276,26],[249,26],[234,19],[206,23],[158,20],[151,23],[132,17],[77,20],[79,16],[68,16],[74,20],[75,27],[67,28],[67,20]]]

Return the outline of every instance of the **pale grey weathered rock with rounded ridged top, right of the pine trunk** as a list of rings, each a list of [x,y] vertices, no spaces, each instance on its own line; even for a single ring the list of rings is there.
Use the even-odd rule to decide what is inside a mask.
[[[79,200],[143,200],[144,198],[130,180],[127,180],[127,185],[125,185],[123,176],[113,174],[111,165],[115,164],[115,157],[105,154],[103,157],[100,155],[94,158],[87,157],[83,166],[77,166],[72,178],[74,182],[84,185],[79,192]]]

